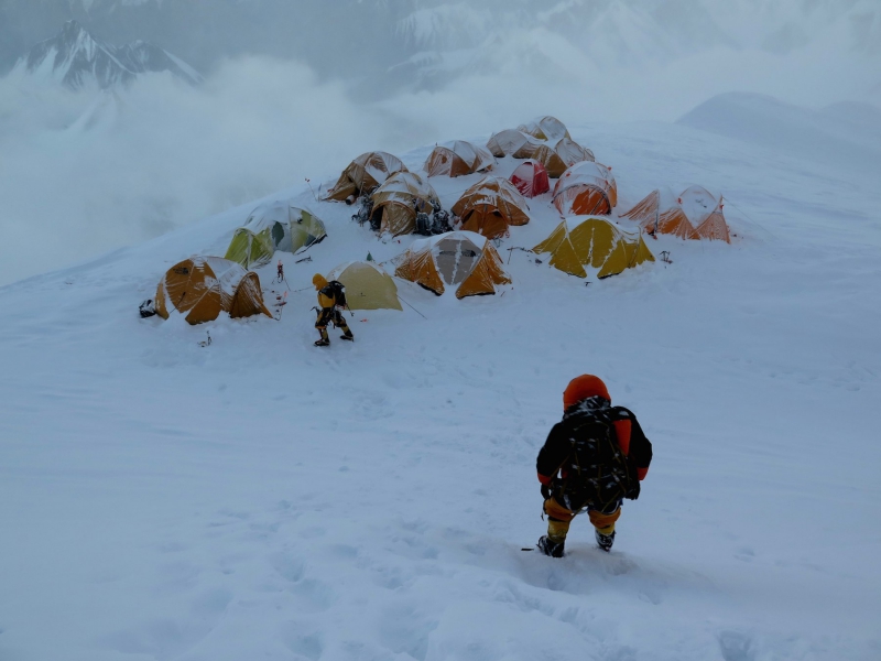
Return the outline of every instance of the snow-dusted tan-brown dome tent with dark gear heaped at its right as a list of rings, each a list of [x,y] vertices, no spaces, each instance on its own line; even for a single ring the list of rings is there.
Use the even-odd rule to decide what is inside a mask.
[[[417,207],[421,212],[429,214],[433,203],[438,202],[434,188],[418,174],[412,172],[399,172],[390,176],[373,192],[371,198],[373,201],[371,223],[379,226],[381,234],[389,232],[395,237],[415,231]]]

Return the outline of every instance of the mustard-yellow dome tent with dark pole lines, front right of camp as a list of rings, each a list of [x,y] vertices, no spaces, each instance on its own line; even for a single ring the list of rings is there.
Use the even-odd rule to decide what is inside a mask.
[[[532,251],[550,252],[552,267],[578,278],[587,278],[587,266],[599,269],[597,278],[608,278],[654,261],[641,234],[627,235],[608,219],[592,217],[564,219]]]

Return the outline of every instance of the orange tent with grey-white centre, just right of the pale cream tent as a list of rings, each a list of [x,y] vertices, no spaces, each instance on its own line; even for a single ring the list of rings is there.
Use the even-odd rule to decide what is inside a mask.
[[[444,284],[457,285],[456,297],[494,294],[511,279],[492,243],[472,231],[447,234],[413,241],[395,259],[398,278],[415,282],[438,296]]]

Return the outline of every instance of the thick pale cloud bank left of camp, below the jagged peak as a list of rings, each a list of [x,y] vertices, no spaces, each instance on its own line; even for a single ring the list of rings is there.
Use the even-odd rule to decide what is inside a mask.
[[[393,132],[339,83],[246,57],[193,88],[116,93],[0,80],[0,283],[137,243],[341,170]]]

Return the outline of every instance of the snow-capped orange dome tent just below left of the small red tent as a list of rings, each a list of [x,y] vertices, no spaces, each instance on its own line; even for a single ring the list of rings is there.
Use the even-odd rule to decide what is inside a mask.
[[[463,193],[453,213],[461,218],[461,229],[496,239],[503,237],[509,226],[529,223],[529,208],[511,182],[485,176]]]

